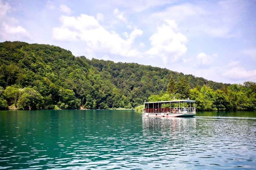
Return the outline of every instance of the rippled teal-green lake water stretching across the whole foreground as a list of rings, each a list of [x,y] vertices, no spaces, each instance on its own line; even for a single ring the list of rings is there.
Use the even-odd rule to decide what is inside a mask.
[[[0,111],[0,169],[255,169],[256,112]]]

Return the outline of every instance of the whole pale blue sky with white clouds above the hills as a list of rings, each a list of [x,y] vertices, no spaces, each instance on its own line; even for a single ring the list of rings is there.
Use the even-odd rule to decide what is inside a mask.
[[[0,42],[256,82],[254,0],[0,0]]]

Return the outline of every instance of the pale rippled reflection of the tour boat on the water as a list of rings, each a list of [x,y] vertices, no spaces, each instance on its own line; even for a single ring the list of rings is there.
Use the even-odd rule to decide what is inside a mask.
[[[184,143],[196,133],[196,118],[142,117],[145,141],[159,144]]]

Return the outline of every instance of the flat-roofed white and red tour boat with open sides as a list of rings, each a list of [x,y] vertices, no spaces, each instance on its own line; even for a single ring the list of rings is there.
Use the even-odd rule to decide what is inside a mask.
[[[194,100],[170,100],[145,102],[142,116],[192,117],[196,115]]]

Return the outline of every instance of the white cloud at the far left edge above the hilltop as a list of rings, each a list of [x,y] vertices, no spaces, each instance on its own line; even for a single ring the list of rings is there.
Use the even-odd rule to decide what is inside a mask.
[[[17,41],[21,39],[31,39],[26,29],[17,25],[18,20],[8,17],[7,13],[12,7],[7,3],[0,1],[0,39]]]

